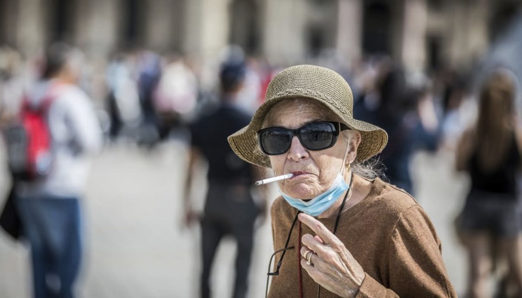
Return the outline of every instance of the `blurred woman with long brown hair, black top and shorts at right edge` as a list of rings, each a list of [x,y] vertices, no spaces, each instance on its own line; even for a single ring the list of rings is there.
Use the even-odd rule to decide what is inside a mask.
[[[516,121],[515,81],[506,70],[495,71],[482,87],[477,123],[462,135],[456,166],[471,177],[471,188],[458,229],[469,254],[469,296],[491,297],[488,284],[493,251],[507,257],[522,292],[522,218],[517,175],[522,162],[522,130]]]

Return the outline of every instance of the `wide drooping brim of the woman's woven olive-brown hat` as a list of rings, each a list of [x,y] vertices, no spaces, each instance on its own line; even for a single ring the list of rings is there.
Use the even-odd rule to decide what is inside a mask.
[[[322,98],[307,94],[299,94],[299,96],[288,94],[268,99],[260,105],[252,117],[250,124],[228,137],[232,150],[246,162],[264,166],[265,168],[271,168],[269,157],[259,149],[257,132],[262,128],[264,118],[274,104],[284,99],[296,97],[310,98],[323,103],[348,127],[358,130],[361,133],[361,143],[357,150],[356,161],[365,161],[375,156],[375,154],[381,152],[384,147],[386,147],[388,134],[381,127],[348,117],[345,113],[338,112],[338,109],[334,109],[330,102]]]

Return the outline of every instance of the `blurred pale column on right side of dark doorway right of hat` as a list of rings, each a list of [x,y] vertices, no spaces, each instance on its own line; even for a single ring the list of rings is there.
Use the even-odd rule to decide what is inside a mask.
[[[401,61],[406,69],[421,71],[426,62],[426,0],[406,0],[401,43]]]

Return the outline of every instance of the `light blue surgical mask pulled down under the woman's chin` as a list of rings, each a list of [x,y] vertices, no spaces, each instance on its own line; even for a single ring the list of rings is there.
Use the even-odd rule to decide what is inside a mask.
[[[348,153],[348,148],[346,148],[346,153]],[[345,153],[345,160],[346,160]],[[326,192],[316,196],[315,198],[304,201],[301,199],[295,199],[291,196],[284,194],[279,190],[281,196],[290,204],[290,206],[306,213],[311,216],[318,216],[319,214],[326,211],[330,208],[334,203],[341,197],[341,195],[348,190],[349,186],[345,181],[343,176],[343,170],[345,169],[345,160],[342,161],[341,170],[337,174],[334,183],[331,184],[330,188],[326,190]]]

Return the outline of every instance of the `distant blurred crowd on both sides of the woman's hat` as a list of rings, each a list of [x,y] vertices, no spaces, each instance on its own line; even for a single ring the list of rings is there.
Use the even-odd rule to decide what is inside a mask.
[[[272,65],[265,58],[247,56],[238,46],[223,49],[212,61],[144,49],[118,52],[96,69],[85,59],[78,85],[97,106],[109,139],[127,138],[150,145],[164,140],[172,128],[187,125],[218,102],[219,68],[232,60],[243,61],[246,67],[238,105],[253,113],[263,102],[271,77],[288,65]],[[354,113],[365,119],[379,118],[381,124],[393,122],[381,116],[418,115],[423,128],[436,132],[444,147],[453,148],[461,130],[476,114],[474,101],[469,100],[472,78],[465,73],[447,67],[430,73],[407,73],[385,55],[370,55],[350,63],[339,61],[335,54],[325,52],[307,63],[343,75],[354,94]],[[17,115],[23,92],[39,79],[44,67],[43,54],[23,57],[10,47],[0,48],[3,122]],[[387,128],[389,125],[384,124]]]

